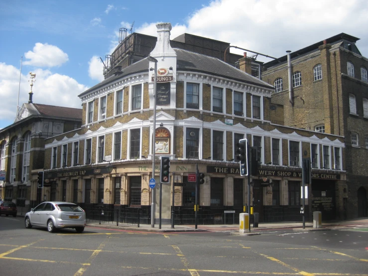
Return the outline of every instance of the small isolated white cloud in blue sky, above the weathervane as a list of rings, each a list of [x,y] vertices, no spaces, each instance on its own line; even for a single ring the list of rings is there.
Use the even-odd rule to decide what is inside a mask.
[[[23,62],[24,65],[39,67],[61,66],[69,60],[68,55],[57,46],[39,42],[35,44],[33,51],[26,52],[24,57],[28,59]]]

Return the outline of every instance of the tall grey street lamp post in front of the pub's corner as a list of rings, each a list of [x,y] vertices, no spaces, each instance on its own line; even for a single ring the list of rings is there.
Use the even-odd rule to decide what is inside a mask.
[[[154,84],[153,84],[153,138],[152,138],[152,178],[154,178],[155,173],[155,144],[156,144],[156,86],[157,86],[157,59],[148,56],[150,62],[154,62]],[[154,227],[154,199],[155,199],[155,189],[152,189],[151,193],[151,228]]]

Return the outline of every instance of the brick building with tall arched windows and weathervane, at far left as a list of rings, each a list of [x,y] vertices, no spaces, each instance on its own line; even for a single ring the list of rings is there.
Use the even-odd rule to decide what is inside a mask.
[[[79,129],[82,110],[32,103],[23,104],[15,122],[0,130],[0,198],[18,209],[43,201],[37,189],[37,171],[43,170],[45,138]],[[19,210],[20,211],[20,210]]]

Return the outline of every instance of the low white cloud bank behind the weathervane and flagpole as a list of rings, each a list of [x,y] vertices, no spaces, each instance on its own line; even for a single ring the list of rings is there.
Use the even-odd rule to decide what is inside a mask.
[[[63,107],[81,108],[81,100],[77,97],[88,89],[75,79],[50,70],[36,69],[36,82],[33,85],[33,103]],[[0,62],[0,123],[14,121],[19,88],[19,69]],[[22,73],[20,77],[19,106],[28,103],[29,74]],[[5,126],[2,126],[5,127]]]

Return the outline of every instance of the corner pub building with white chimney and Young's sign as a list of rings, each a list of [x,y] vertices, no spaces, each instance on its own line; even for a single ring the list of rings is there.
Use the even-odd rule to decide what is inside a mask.
[[[318,155],[318,169],[313,169],[308,187],[307,218],[314,210],[327,219],[340,216],[336,198],[343,197],[346,188],[343,137],[272,124],[271,118],[283,118],[283,107],[270,109],[273,86],[246,73],[246,57],[238,69],[215,57],[172,48],[171,24],[156,26],[157,43],[150,56],[158,61],[157,72],[147,58],[123,69],[116,66],[114,74],[79,95],[81,129],[46,140],[47,200],[77,202],[86,210],[139,207],[141,223],[149,224],[148,183],[155,150],[155,223],[160,155],[171,158],[170,183],[186,184],[174,186],[174,191],[171,184],[162,184],[162,223],[170,223],[172,192],[175,224],[194,223],[195,183],[188,182],[188,173],[194,173],[197,164],[205,174],[198,223],[233,223],[228,217],[224,221],[224,211],[234,210],[239,220],[248,193],[235,144],[247,138],[261,162],[250,189],[259,221],[302,219],[301,161],[311,154]]]

